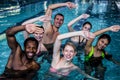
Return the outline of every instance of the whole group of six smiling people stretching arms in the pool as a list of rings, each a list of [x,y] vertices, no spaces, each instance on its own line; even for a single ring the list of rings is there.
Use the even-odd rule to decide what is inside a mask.
[[[11,27],[6,31],[11,54],[0,80],[32,80],[40,69],[40,64],[36,62],[34,57],[41,57],[41,55],[47,55],[51,59],[49,71],[58,78],[66,77],[71,71],[76,70],[85,76],[84,80],[89,78],[104,80],[106,70],[102,64],[104,58],[120,65],[118,61],[113,59],[112,55],[104,50],[111,42],[111,37],[108,34],[103,34],[107,31],[118,32],[120,26],[113,25],[91,33],[92,24],[85,22],[82,24],[81,30],[75,31],[72,25],[80,19],[86,19],[90,16],[89,14],[82,14],[68,23],[68,33],[60,34],[58,30],[64,23],[64,15],[61,13],[56,14],[53,24],[51,16],[53,9],[63,6],[70,9],[76,7],[72,2],[49,5],[45,15],[28,20],[20,26]],[[33,24],[38,20],[43,22],[42,26]],[[22,50],[15,37],[16,33],[20,31],[24,31],[26,38],[24,50]],[[33,36],[31,37],[30,34]],[[98,41],[93,46],[92,43],[97,36],[99,36]],[[68,38],[69,40],[62,46],[62,40]],[[78,49],[84,50],[84,70],[72,63],[74,56],[79,54]],[[45,52],[48,54],[44,54]],[[91,75],[93,71],[95,73]]]

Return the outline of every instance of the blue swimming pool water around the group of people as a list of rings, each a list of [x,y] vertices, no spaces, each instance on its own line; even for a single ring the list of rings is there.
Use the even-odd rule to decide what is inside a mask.
[[[92,0],[91,0],[92,1]],[[0,13],[0,33],[1,35],[4,33],[4,31],[13,25],[20,24],[23,22],[23,20],[28,19],[33,16],[39,16],[44,14],[45,4],[47,1],[41,1],[34,4],[29,4],[24,7],[19,8],[20,6],[14,6],[14,9],[2,11]],[[79,16],[80,14],[84,12],[88,12],[91,14],[90,18],[88,18],[88,21],[90,21],[93,25],[92,32],[111,26],[115,24],[120,25],[120,12],[117,8],[117,5],[115,5],[113,2],[108,2],[107,0],[104,1],[95,1],[91,5],[91,2],[86,2],[84,0],[75,0],[74,1],[78,7],[73,10],[69,10],[66,7],[62,7],[59,9],[56,9],[53,11],[53,16],[60,12],[64,14],[65,16],[65,22],[63,26],[60,28],[60,33],[66,33],[67,32],[67,23],[72,20],[73,18]],[[52,1],[48,4],[53,3]],[[55,3],[55,2],[54,2]],[[114,4],[114,5],[113,5]],[[89,10],[88,7],[90,8]],[[69,17],[69,18],[68,18]],[[39,22],[36,22],[38,24],[41,24]],[[106,48],[106,50],[113,55],[114,58],[120,61],[120,54],[119,54],[119,47],[120,44],[117,44],[120,42],[120,32],[113,33],[108,32],[108,34],[112,37],[112,42],[110,45]],[[17,39],[19,40],[20,44],[23,45],[23,34],[18,33]],[[23,40],[21,40],[23,39]],[[64,41],[63,41],[64,43]],[[8,48],[6,39],[0,40],[0,74],[4,71],[5,65],[7,63],[7,59],[9,57],[10,49]],[[39,59],[41,60],[41,59]],[[77,64],[76,58],[74,58],[73,62]],[[120,79],[120,67],[117,65],[114,65],[113,63],[109,61],[104,61],[105,66],[107,67],[107,71],[105,74],[105,80],[119,80]],[[38,78],[36,80],[43,80],[45,73],[47,73],[48,69],[50,67],[50,64],[45,60],[44,63],[41,64],[41,69],[38,72]],[[71,74],[68,79],[69,80],[80,80],[82,77],[80,74]],[[49,79],[49,80],[55,80]]]

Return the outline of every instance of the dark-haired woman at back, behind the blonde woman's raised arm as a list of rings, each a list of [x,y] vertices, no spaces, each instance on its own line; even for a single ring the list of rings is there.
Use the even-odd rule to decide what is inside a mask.
[[[89,16],[90,15],[88,15],[88,14],[82,14],[82,15],[78,16],[77,18],[73,19],[72,21],[70,21],[68,23],[69,32],[76,31],[72,28],[72,25],[75,22],[79,22],[81,19],[86,19]],[[92,24],[90,22],[84,22],[83,25],[81,23],[79,26],[82,26],[81,31],[90,31],[92,28]],[[70,38],[70,41],[73,42],[77,47],[84,48],[84,46],[87,42],[87,39],[83,38],[82,36],[74,36],[74,37]]]

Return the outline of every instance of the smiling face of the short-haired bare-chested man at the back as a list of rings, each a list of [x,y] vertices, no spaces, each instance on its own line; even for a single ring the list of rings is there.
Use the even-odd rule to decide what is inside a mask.
[[[56,15],[55,19],[54,19],[54,25],[57,28],[60,28],[60,26],[63,24],[64,22],[64,17],[62,15]]]

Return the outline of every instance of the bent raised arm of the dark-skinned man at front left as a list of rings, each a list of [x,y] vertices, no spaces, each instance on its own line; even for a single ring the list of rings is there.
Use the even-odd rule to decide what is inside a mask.
[[[34,24],[27,24],[27,25],[21,25],[21,26],[15,26],[6,31],[6,36],[7,36],[7,41],[8,41],[8,46],[14,51],[16,48],[19,46],[15,34],[20,31],[26,30],[29,33],[34,33],[34,32],[39,32],[39,28],[36,27]],[[14,45],[13,45],[14,44]]]

